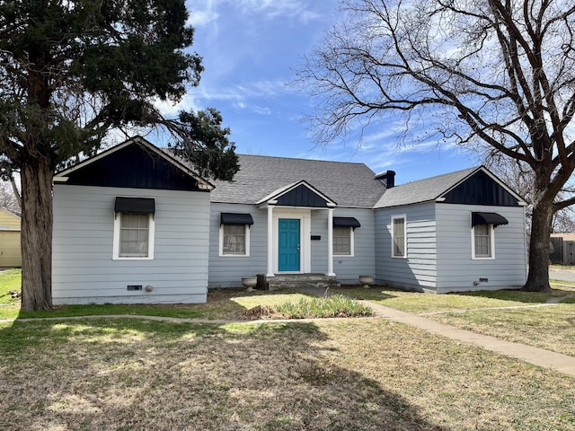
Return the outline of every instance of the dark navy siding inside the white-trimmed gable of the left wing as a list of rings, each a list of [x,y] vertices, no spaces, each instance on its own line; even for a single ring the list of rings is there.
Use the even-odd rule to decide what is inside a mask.
[[[198,181],[137,143],[68,174],[66,184],[134,189],[199,190]]]

